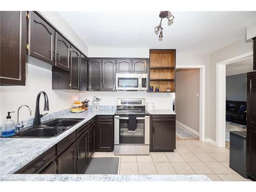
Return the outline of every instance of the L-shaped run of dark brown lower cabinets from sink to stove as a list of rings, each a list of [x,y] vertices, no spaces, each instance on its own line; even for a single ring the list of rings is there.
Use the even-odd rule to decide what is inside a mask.
[[[45,153],[20,168],[16,174],[83,174],[95,152],[114,150],[114,118],[99,116],[80,126]]]

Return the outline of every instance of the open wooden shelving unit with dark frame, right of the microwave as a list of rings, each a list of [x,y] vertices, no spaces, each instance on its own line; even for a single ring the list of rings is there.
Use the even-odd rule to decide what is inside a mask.
[[[150,86],[159,87],[159,92],[175,92],[175,69],[176,69],[176,50],[175,49],[151,49],[150,63],[148,65],[148,81]],[[148,86],[148,92],[150,92]],[[157,93],[159,93],[157,92]]]

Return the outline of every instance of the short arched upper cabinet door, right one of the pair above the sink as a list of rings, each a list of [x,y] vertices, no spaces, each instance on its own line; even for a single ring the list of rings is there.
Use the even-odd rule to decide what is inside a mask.
[[[70,43],[57,32],[55,33],[55,66],[70,71]]]

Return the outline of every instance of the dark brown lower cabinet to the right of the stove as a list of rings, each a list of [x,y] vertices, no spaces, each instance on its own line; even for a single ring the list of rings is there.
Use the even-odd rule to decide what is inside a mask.
[[[175,116],[152,116],[152,146],[154,152],[173,152],[176,148]]]

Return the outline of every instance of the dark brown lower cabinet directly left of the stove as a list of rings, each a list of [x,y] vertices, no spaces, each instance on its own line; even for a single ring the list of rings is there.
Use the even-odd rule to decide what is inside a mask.
[[[96,151],[112,152],[113,150],[114,150],[113,116],[98,115]]]

